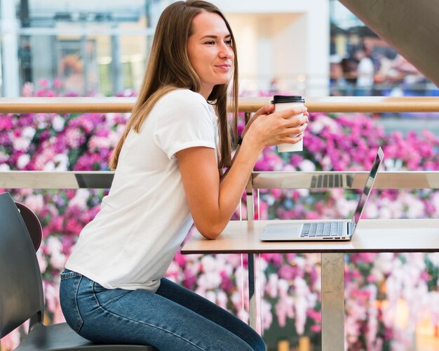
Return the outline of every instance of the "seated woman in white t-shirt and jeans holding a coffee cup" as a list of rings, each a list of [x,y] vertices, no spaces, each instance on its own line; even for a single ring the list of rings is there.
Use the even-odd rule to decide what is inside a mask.
[[[232,80],[236,118],[237,71],[233,34],[215,6],[166,8],[112,156],[111,190],[61,276],[62,310],[81,336],[166,351],[265,350],[247,324],[163,278],[192,223],[208,239],[222,232],[264,147],[303,137],[305,109],[264,107],[231,160],[227,86]]]

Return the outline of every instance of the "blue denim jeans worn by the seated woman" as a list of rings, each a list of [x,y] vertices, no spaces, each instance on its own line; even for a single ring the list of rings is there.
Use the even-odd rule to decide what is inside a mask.
[[[153,345],[163,351],[265,350],[250,326],[165,278],[151,293],[105,289],[65,270],[60,302],[67,324],[97,343]]]

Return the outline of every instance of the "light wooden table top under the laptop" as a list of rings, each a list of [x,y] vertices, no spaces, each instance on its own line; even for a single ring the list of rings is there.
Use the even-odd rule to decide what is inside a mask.
[[[182,253],[356,253],[439,251],[438,219],[360,220],[351,241],[264,242],[268,223],[295,220],[233,220],[215,240],[196,232]]]

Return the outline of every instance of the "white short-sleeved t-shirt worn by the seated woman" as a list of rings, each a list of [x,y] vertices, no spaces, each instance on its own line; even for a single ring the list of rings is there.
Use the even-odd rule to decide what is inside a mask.
[[[193,220],[175,153],[215,149],[217,117],[198,93],[176,90],[130,131],[111,190],[83,228],[66,268],[107,289],[156,291]]]

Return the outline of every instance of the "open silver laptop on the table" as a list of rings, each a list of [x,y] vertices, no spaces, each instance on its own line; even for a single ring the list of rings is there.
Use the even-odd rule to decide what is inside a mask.
[[[367,177],[363,192],[358,200],[356,211],[351,220],[330,220],[316,221],[307,220],[295,223],[279,223],[266,225],[260,239],[262,241],[326,241],[344,240],[349,241],[356,230],[358,220],[365,208],[367,199],[374,185],[378,168],[384,158],[384,152],[379,147],[377,156],[372,164],[369,176]]]

